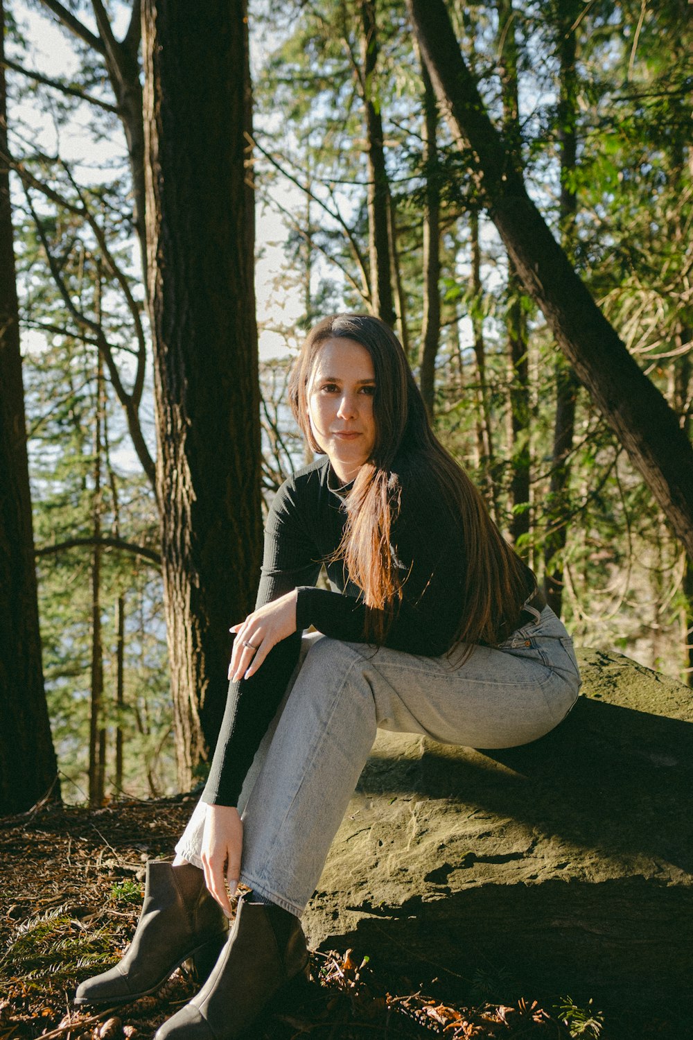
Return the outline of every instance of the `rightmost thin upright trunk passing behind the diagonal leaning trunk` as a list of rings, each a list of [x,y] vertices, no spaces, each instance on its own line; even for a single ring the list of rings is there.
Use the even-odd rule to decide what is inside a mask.
[[[578,72],[577,36],[574,23],[579,14],[576,0],[558,0],[556,37],[559,55],[558,140],[561,163],[559,223],[561,241],[568,256],[575,250],[575,224],[578,197],[574,175],[578,156]],[[570,482],[570,452],[575,439],[576,401],[580,384],[571,366],[559,356],[556,363],[556,417],[551,482],[547,502],[543,588],[547,602],[560,618],[563,607],[563,550],[567,541],[569,510],[567,491]]]

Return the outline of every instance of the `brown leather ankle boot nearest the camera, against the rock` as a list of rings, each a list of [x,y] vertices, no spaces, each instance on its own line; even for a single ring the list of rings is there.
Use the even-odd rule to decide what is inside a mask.
[[[274,904],[242,898],[212,974],[197,995],[163,1023],[155,1040],[234,1040],[289,984],[308,977],[308,947],[298,917]]]

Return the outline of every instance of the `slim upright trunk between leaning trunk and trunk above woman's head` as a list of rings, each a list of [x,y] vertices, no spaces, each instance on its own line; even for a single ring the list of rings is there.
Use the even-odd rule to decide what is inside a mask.
[[[421,59],[424,83],[424,164],[426,205],[424,210],[424,320],[419,354],[419,385],[429,418],[435,404],[435,358],[441,338],[441,184],[437,168],[437,101],[425,61]]]

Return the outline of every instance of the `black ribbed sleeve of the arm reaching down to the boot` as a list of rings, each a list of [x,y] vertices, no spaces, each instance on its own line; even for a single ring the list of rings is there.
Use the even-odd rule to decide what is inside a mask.
[[[321,560],[301,521],[293,483],[276,493],[267,518],[256,607],[297,586],[314,584]],[[301,629],[272,647],[255,675],[229,685],[229,698],[203,802],[237,805],[245,776],[298,660]]]

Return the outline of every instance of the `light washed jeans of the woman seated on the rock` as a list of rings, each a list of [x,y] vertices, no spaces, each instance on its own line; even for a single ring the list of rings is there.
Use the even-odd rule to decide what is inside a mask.
[[[461,646],[444,657],[418,657],[304,638],[239,800],[244,884],[300,916],[377,727],[510,748],[543,736],[577,700],[572,642],[550,607],[500,647],[476,646],[462,656]],[[201,802],[176,846],[197,866],[206,811]]]

